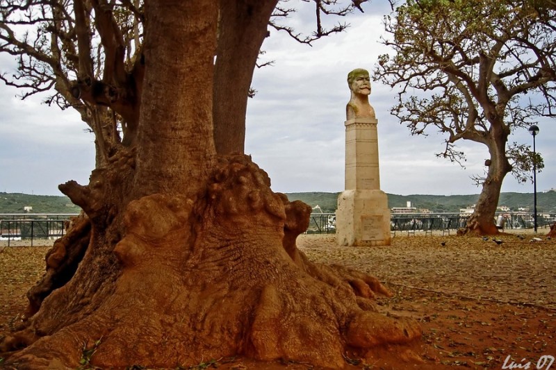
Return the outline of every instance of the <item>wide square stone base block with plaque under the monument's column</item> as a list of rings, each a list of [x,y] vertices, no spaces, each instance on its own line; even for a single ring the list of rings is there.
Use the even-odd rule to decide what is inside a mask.
[[[336,239],[341,246],[390,245],[390,209],[382,190],[345,190],[338,196]]]

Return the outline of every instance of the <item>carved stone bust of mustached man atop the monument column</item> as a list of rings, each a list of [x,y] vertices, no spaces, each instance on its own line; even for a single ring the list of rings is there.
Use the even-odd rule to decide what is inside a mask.
[[[376,118],[375,109],[369,104],[369,72],[366,69],[354,69],[347,74],[347,85],[350,87],[352,96],[345,107],[346,119]]]

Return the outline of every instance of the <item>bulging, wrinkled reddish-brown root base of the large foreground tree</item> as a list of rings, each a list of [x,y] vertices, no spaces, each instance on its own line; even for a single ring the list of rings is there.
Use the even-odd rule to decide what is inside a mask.
[[[416,321],[374,310],[369,298],[389,294],[376,280],[292,257],[287,212],[244,156],[221,163],[201,201],[154,194],[131,202],[112,294],[6,365],[72,368],[94,347],[90,364],[101,368],[245,355],[341,369],[346,351],[370,356],[420,338]]]

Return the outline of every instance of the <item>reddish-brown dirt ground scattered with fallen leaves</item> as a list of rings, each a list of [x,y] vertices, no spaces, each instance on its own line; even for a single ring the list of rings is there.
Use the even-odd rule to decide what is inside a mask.
[[[498,239],[455,235],[393,237],[391,246],[345,248],[334,235],[301,235],[311,260],[340,263],[377,276],[394,293],[381,310],[410,316],[423,327],[418,360],[383,353],[346,369],[556,369],[556,243],[539,234]],[[533,237],[542,239],[532,241]],[[0,338],[17,322],[26,290],[40,278],[44,246],[0,246]],[[553,360],[554,363],[551,362]],[[0,362],[1,367],[1,362]],[[299,362],[242,358],[199,361],[185,369],[316,369]]]

